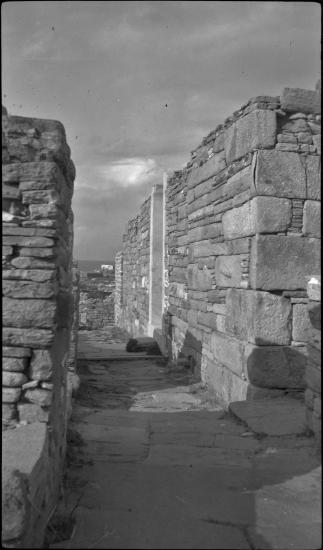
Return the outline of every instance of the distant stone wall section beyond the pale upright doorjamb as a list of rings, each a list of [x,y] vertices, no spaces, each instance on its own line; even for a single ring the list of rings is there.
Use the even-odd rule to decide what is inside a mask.
[[[118,324],[133,336],[148,331],[150,212],[148,197],[123,236],[122,316]]]

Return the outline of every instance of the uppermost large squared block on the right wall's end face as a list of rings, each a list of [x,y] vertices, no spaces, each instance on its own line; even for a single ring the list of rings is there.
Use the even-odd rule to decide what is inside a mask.
[[[258,151],[255,171],[258,195],[306,198],[305,167],[298,153]]]

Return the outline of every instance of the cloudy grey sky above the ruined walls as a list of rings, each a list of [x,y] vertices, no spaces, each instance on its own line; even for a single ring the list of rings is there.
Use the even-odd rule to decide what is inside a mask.
[[[3,3],[3,104],[65,126],[75,258],[113,261],[163,171],[250,97],[313,89],[320,19],[315,2]]]

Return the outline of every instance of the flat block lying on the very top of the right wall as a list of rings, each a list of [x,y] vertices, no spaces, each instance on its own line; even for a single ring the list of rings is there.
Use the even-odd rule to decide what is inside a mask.
[[[283,111],[293,113],[320,113],[320,99],[316,91],[302,88],[284,88],[280,96]]]

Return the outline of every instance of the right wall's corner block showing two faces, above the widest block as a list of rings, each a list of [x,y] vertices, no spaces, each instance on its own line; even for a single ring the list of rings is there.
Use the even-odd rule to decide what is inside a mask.
[[[222,218],[225,239],[237,239],[255,233],[285,231],[291,219],[291,201],[276,197],[255,197],[225,212]]]

